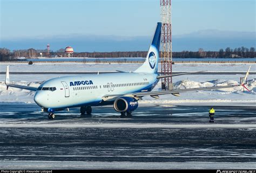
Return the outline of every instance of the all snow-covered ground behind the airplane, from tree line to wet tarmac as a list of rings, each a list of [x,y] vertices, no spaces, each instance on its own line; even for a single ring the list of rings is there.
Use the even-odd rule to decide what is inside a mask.
[[[73,63],[36,63],[11,64],[10,71],[114,71],[114,70],[135,70],[141,64],[73,64]],[[256,71],[256,64],[252,65],[251,71]],[[174,64],[173,71],[247,71],[249,64]],[[5,71],[8,64],[1,63],[0,71]],[[160,68],[160,67],[159,67]],[[74,70],[75,69],[75,70]],[[64,75],[11,75],[10,80],[22,85],[39,86],[43,81],[52,77]],[[198,88],[206,86],[220,86],[238,84],[243,75],[184,75],[173,77],[174,88]],[[5,75],[0,75],[0,102],[25,102],[34,103],[34,92],[10,88],[6,91],[4,84]],[[174,104],[174,105],[256,105],[256,76],[249,75],[248,89],[252,91],[242,92],[242,87],[230,89],[219,89],[215,91],[197,91],[181,93],[180,97],[173,95],[160,96],[160,99],[144,97],[139,104]],[[160,82],[154,90],[160,90]]]

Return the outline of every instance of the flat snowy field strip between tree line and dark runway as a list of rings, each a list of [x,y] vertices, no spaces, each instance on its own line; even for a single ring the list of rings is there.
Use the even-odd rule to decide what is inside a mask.
[[[0,63],[0,71],[5,71],[10,65],[10,71],[134,71],[140,63],[41,63],[32,65],[28,63]],[[251,71],[256,71],[255,63],[176,63],[173,71],[244,71],[252,66]],[[160,63],[158,64],[160,70]]]

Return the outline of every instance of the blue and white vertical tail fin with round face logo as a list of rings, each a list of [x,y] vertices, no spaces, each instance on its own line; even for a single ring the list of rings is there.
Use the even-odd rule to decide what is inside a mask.
[[[149,52],[142,66],[140,66],[134,73],[157,73],[158,60],[159,60],[159,47],[161,37],[161,23],[157,23],[156,32],[152,39]]]

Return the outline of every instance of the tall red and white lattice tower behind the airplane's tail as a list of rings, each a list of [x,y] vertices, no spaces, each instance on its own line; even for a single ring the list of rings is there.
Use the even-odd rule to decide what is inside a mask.
[[[171,0],[160,0],[161,10],[161,75],[172,74],[172,20]],[[161,80],[163,90],[172,90],[172,77]]]

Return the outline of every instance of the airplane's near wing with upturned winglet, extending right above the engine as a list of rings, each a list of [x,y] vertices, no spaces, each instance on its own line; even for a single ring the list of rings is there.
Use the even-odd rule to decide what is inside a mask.
[[[104,101],[114,100],[117,97],[122,97],[122,96],[134,97],[134,98],[138,98],[138,99],[141,98],[141,97],[144,97],[144,96],[151,96],[153,98],[159,98],[159,95],[167,95],[167,94],[172,94],[174,96],[179,96],[180,92],[200,91],[200,90],[215,90],[215,89],[223,89],[223,88],[233,88],[235,86],[243,86],[246,90],[248,90],[244,86],[244,84],[245,84],[246,78],[248,77],[250,68],[251,68],[251,66],[247,70],[244,81],[241,84],[238,84],[238,85],[211,86],[211,87],[203,87],[203,88],[175,89],[175,90],[165,90],[165,91],[133,92],[133,93],[126,93],[124,95],[105,95],[105,96],[103,96],[103,100]],[[248,90],[248,91],[250,91],[250,90]]]

